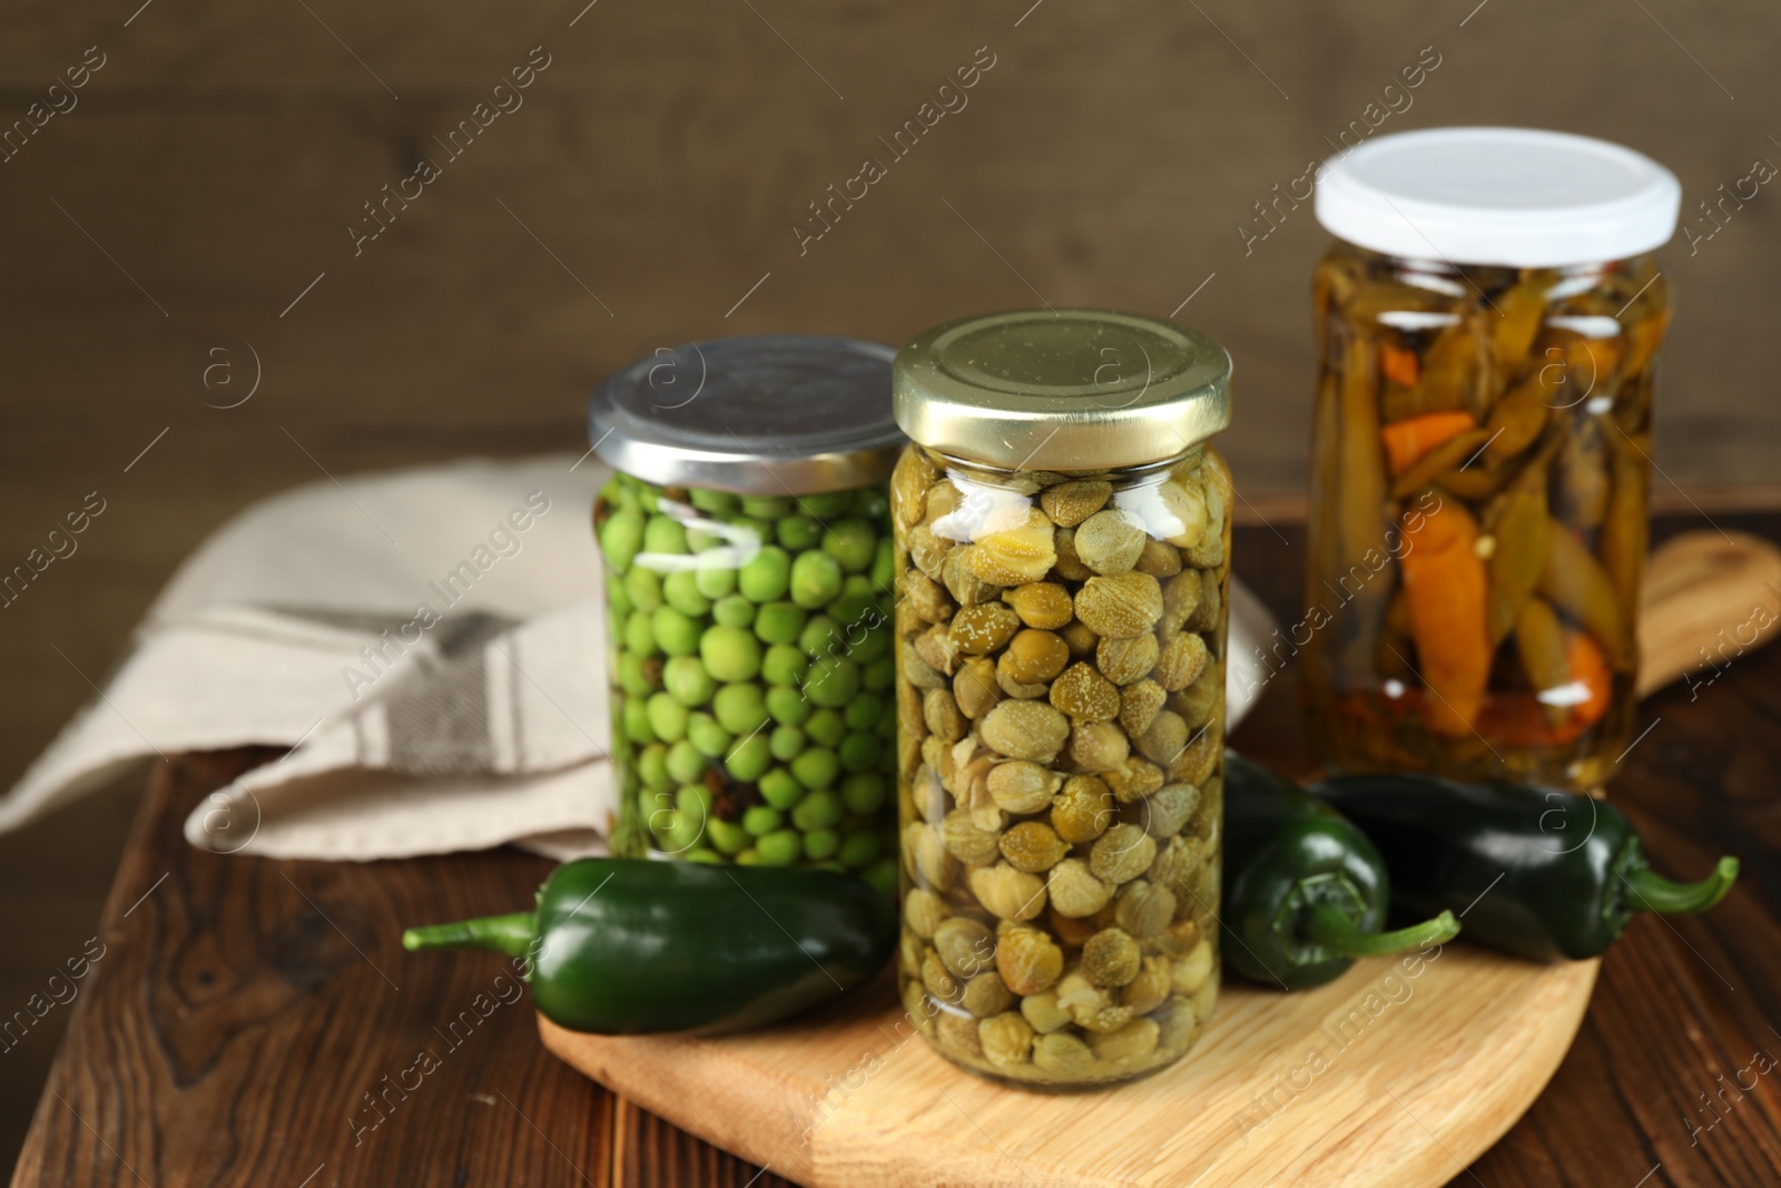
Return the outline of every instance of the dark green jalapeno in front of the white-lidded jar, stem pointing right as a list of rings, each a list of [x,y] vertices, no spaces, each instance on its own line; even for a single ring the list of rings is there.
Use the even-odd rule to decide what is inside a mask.
[[[1395,907],[1452,908],[1468,940],[1533,960],[1599,956],[1633,912],[1704,912],[1738,876],[1726,857],[1699,883],[1660,878],[1619,809],[1548,787],[1352,775],[1313,791],[1378,844]]]

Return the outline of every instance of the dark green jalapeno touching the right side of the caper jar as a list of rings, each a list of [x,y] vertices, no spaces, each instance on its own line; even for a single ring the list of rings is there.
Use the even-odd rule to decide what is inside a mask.
[[[1225,752],[1224,958],[1245,978],[1305,990],[1355,958],[1443,944],[1450,912],[1380,932],[1391,883],[1346,818],[1291,780]]]

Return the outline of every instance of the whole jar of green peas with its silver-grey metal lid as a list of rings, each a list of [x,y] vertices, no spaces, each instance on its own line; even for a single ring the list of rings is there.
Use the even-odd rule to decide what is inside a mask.
[[[890,356],[720,338],[595,392],[614,853],[894,891]]]

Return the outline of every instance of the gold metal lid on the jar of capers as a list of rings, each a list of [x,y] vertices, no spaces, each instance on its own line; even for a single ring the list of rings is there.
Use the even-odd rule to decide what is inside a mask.
[[[1140,313],[981,313],[898,351],[890,408],[912,440],[1003,470],[1142,467],[1231,424],[1231,356]]]

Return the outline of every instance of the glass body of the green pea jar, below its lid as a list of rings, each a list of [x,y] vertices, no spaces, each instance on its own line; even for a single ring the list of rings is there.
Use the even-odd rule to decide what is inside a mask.
[[[882,484],[801,497],[614,474],[606,563],[613,851],[821,864],[896,885]]]

